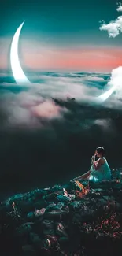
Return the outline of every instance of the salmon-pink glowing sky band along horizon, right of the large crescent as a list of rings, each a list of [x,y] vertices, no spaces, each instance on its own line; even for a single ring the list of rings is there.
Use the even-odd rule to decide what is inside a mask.
[[[122,65],[122,49],[43,50],[38,54],[23,54],[29,69],[76,69],[111,72]]]

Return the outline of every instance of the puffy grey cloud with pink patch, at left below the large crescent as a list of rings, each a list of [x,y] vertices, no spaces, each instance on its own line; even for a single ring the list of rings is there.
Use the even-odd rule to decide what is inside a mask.
[[[3,128],[43,128],[43,119],[50,121],[61,118],[67,111],[34,91],[21,91],[17,94],[5,91],[0,97],[0,104],[1,112],[6,117],[2,121]]]

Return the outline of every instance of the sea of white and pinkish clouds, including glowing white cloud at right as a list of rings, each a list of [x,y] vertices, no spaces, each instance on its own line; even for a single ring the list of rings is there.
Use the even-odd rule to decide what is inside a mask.
[[[100,108],[122,109],[121,74],[122,67],[114,69],[109,83],[104,80],[105,74],[84,73],[82,77],[76,76],[76,74],[75,76],[71,74],[66,76],[63,73],[58,74],[58,76],[45,74],[41,76],[43,83],[31,83],[31,86],[26,90],[23,87],[17,87],[14,83],[2,83],[3,93],[0,96],[0,104],[1,111],[6,116],[3,123],[5,126],[41,128],[44,119],[51,121],[52,119],[63,118],[65,112],[69,111],[65,107],[55,104],[52,98],[61,99],[62,102],[66,101],[67,97],[76,98],[76,102],[79,104],[89,103],[93,106],[96,97],[114,84],[117,85],[116,92]],[[55,75],[57,74],[55,73]],[[102,82],[105,85],[103,89]],[[17,88],[20,91],[14,93]],[[96,124],[100,125],[101,121],[96,121]]]

